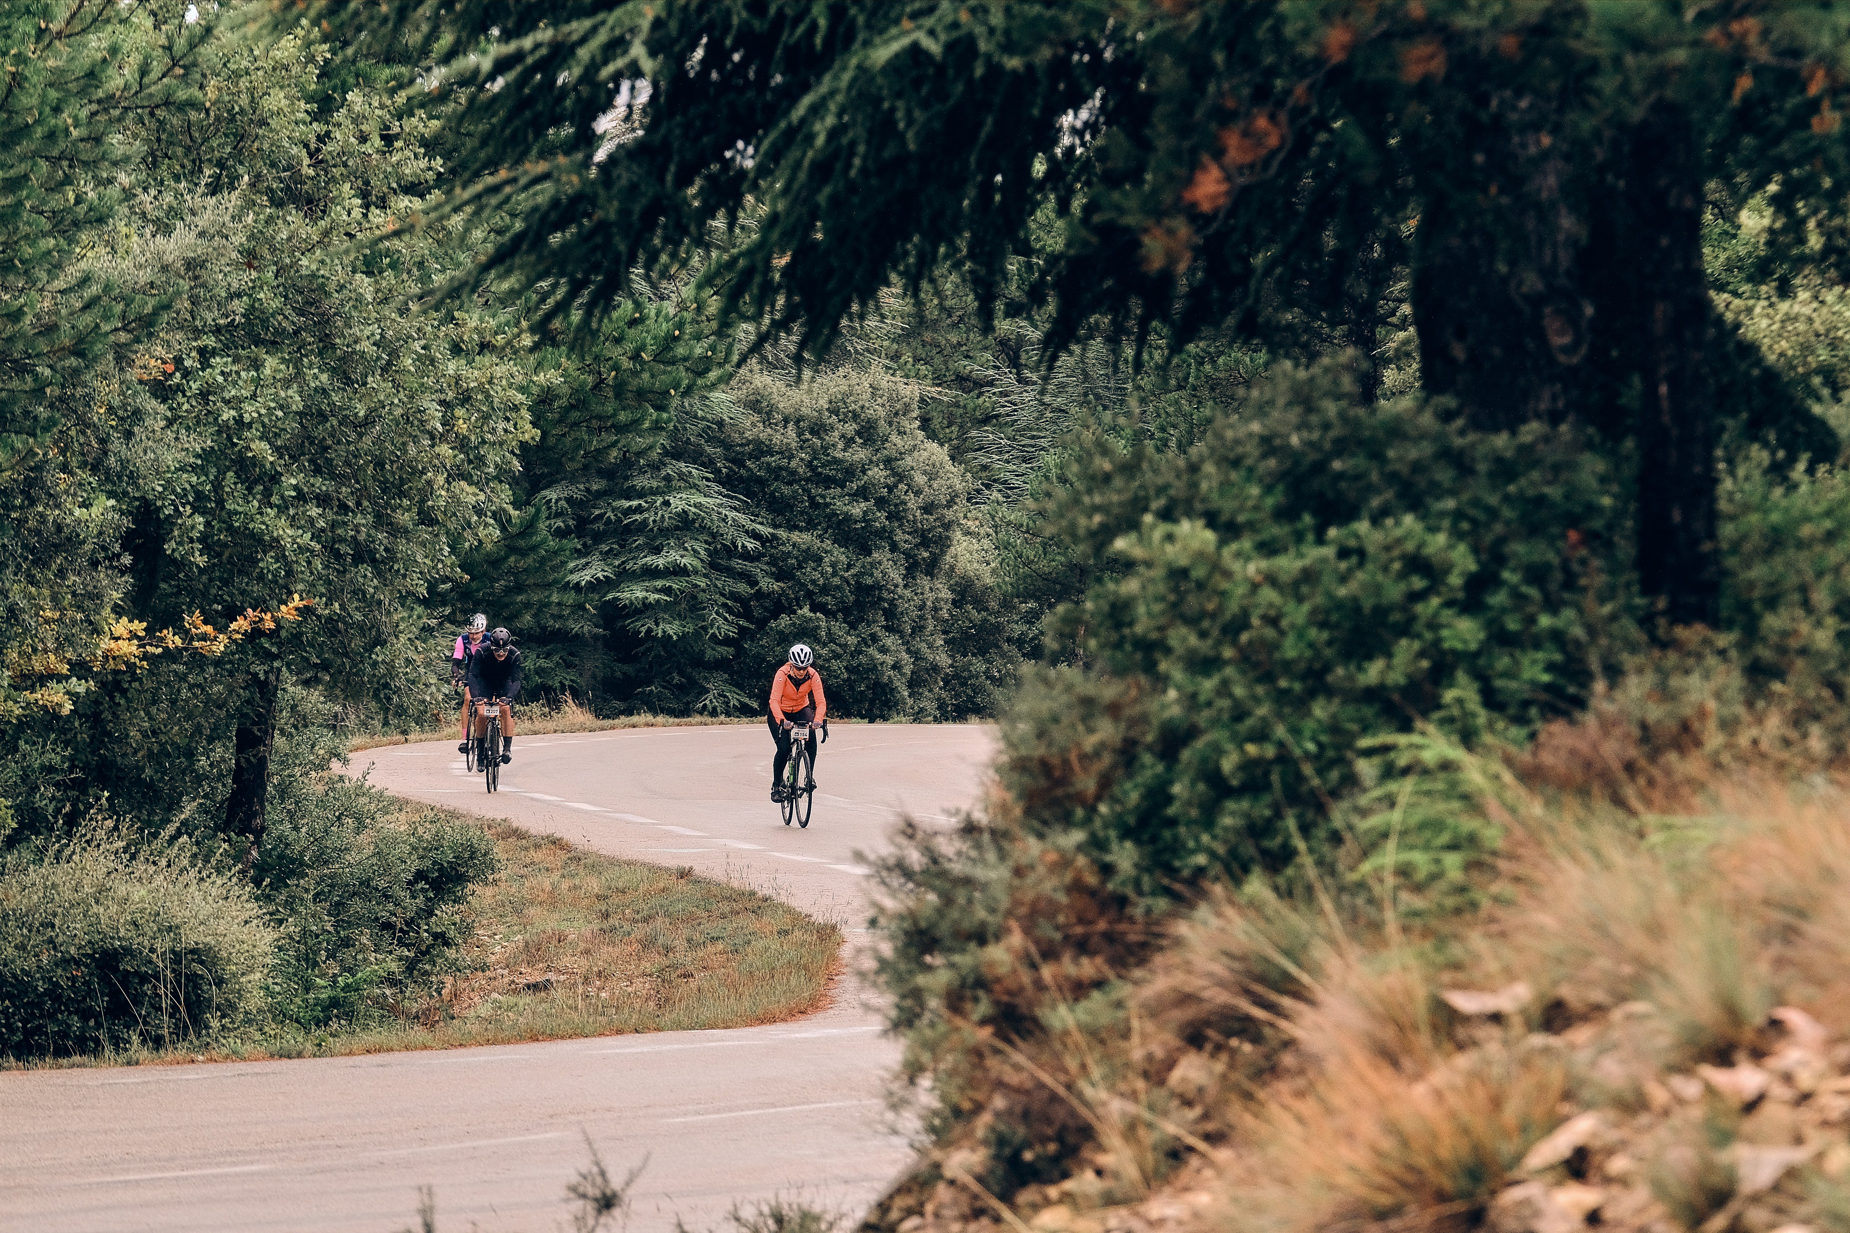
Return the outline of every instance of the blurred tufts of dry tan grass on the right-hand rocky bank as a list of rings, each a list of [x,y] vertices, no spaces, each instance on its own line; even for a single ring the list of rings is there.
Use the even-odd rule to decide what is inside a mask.
[[[1178,932],[1178,954],[1219,956],[1197,965],[1217,987],[1199,1004],[1219,996],[1228,1024],[1278,1017],[1267,1024],[1276,1065],[1219,1111],[1240,1155],[1223,1168],[1217,1222],[1476,1227],[1523,1152],[1585,1102],[1641,1109],[1641,1076],[1767,1052],[1776,1006],[1809,1011],[1833,1035],[1850,1028],[1841,789],[1715,776],[1702,812],[1684,817],[1637,819],[1600,793],[1528,795],[1506,821],[1497,902],[1443,935],[1389,945],[1349,919],[1284,956],[1267,939],[1302,932],[1304,913],[1262,924],[1252,904],[1232,900]],[[1291,971],[1276,980],[1284,958]],[[1500,1024],[1439,998],[1441,987],[1515,980],[1534,996]],[[1582,1044],[1619,1050],[1613,1070],[1574,1070],[1569,1048]],[[1684,1137],[1708,1142],[1698,1129]],[[1654,1190],[1672,1209],[1700,1190],[1684,1205],[1715,1211],[1698,1168],[1708,1157],[1691,1161]]]

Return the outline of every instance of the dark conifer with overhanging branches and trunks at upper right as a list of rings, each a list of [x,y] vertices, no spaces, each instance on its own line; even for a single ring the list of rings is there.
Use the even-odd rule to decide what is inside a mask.
[[[490,268],[564,279],[592,320],[742,216],[722,320],[812,355],[945,259],[992,307],[1036,220],[1049,357],[1099,322],[1371,351],[1406,277],[1426,390],[1474,427],[1635,444],[1637,569],[1674,623],[1715,619],[1715,370],[1745,355],[1708,301],[1706,194],[1778,181],[1798,218],[1850,174],[1850,13],[1824,2],[311,11],[442,61],[481,135],[451,209],[527,194]],[[1850,237],[1811,238],[1843,266]]]

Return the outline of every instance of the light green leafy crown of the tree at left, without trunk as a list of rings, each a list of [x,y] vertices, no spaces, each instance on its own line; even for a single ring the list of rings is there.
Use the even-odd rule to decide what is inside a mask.
[[[168,449],[159,499],[135,494],[135,606],[176,623],[314,597],[281,662],[366,697],[394,675],[381,660],[401,614],[498,508],[527,434],[518,370],[492,355],[492,322],[411,311],[455,253],[348,248],[416,209],[435,122],[368,91],[309,111],[320,55],[292,39],[222,55],[228,116],[216,98],[204,131],[157,115],[150,174],[220,159],[268,174],[226,200],[166,196],[144,224],[198,218],[189,287],[135,355],[154,401],[139,431]]]

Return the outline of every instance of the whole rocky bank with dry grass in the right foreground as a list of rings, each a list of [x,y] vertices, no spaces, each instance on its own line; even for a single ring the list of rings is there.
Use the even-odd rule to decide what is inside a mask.
[[[1014,1000],[1034,1007],[1006,1044],[969,1033],[999,1096],[942,1144],[932,1189],[882,1220],[1463,1233],[1530,1179],[1498,1207],[1504,1227],[1537,1187],[1550,1203],[1589,1190],[1608,1203],[1572,1227],[1850,1227],[1850,780],[1780,712],[1713,684],[1665,669],[1523,754],[1456,751],[1480,797],[1462,808],[1482,810],[1502,847],[1450,915],[1412,915],[1391,878],[1345,882],[1347,867],[1212,891],[1125,974],[1128,1013],[1095,1013],[1090,1035],[1038,965],[997,963],[986,991],[1023,985]],[[1776,1061],[1783,1024],[1806,1013],[1843,1043],[1839,1087],[1817,1104],[1811,1087],[1769,1096],[1772,1113],[1743,1129],[1700,1076],[1765,1063],[1822,1083],[1806,1070],[1817,1057]],[[1003,1192],[1006,1213],[964,1200],[951,1161],[982,1176],[984,1144],[1018,1142],[1018,1126],[1040,1135],[1036,1152],[1042,1137],[1060,1146],[1027,1087],[1080,1113],[1069,1176]],[[1798,1142],[1780,1120],[1793,1109],[1807,1150],[1835,1163],[1750,1192],[1735,1148]],[[1584,1111],[1610,1137],[1524,1172],[1524,1154]]]

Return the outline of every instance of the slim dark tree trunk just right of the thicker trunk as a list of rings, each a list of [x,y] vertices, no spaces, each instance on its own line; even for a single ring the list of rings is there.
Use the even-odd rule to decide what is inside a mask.
[[[1702,152],[1689,118],[1654,107],[1632,135],[1628,222],[1639,373],[1637,573],[1671,625],[1715,625],[1715,379],[1702,268]]]

